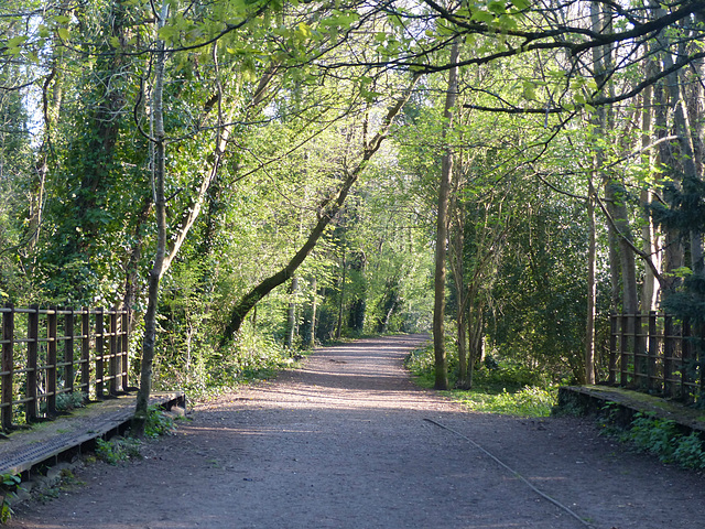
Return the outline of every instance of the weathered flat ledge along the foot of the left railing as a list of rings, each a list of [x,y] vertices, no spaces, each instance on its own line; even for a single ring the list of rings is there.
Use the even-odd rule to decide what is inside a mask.
[[[93,449],[95,440],[122,433],[129,427],[137,396],[123,395],[94,402],[32,429],[19,430],[0,440],[0,475],[20,474],[34,466],[53,464],[62,456]],[[185,406],[183,391],[155,392],[151,406],[171,409]]]

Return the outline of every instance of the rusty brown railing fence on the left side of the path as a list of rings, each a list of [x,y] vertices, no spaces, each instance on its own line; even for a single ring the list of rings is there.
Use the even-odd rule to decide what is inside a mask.
[[[72,399],[128,389],[127,310],[7,305],[0,313],[2,430],[52,418]]]

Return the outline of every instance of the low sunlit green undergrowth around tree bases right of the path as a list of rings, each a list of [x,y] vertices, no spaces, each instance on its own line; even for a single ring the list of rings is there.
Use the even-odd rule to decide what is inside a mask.
[[[449,358],[448,375],[453,385],[457,365]],[[425,388],[434,385],[433,345],[413,350],[405,361],[416,382]],[[557,402],[557,385],[552,385],[525,367],[487,357],[476,367],[470,390],[444,391],[474,411],[520,417],[549,417]]]

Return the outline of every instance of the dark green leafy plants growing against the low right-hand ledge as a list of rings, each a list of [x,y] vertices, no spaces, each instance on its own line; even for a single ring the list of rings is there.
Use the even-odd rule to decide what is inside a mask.
[[[641,452],[649,452],[663,463],[684,468],[705,468],[705,446],[697,432],[683,435],[677,424],[653,413],[637,413],[630,428],[620,434]]]

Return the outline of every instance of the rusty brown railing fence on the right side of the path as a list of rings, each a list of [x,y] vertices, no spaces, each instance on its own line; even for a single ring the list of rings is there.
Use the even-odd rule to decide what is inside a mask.
[[[694,402],[705,390],[705,333],[651,312],[610,317],[609,384]]]

